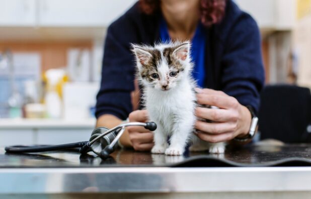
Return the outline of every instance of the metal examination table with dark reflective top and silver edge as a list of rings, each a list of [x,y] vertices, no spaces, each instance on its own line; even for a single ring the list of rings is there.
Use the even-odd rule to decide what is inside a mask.
[[[311,167],[305,166],[310,155],[308,144],[253,145],[228,149],[222,155],[118,150],[108,160],[76,151],[7,154],[0,148],[0,179],[5,179],[0,194],[311,191]],[[308,164],[267,166],[284,158],[300,158]]]

